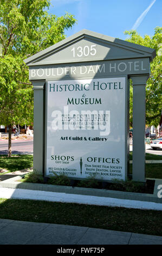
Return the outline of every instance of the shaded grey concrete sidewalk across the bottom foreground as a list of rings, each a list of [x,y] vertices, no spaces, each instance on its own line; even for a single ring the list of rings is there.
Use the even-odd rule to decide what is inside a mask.
[[[162,245],[162,236],[0,219],[0,245]]]

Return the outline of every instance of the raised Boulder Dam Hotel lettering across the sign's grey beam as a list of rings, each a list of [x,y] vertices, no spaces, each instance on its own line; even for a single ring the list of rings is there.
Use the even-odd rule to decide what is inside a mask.
[[[43,77],[43,78],[56,78],[56,77],[68,77],[68,76],[93,76],[97,74],[101,75],[113,75],[124,74],[125,72],[137,72],[146,70],[143,60],[137,61],[125,61],[125,62],[106,62],[96,65],[80,65],[80,66],[63,66],[63,67],[49,67],[30,69],[29,74],[31,78]]]

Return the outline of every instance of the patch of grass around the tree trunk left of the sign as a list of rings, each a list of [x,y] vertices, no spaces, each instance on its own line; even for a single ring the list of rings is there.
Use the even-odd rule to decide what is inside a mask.
[[[0,156],[0,168],[6,169],[9,172],[22,170],[33,167],[33,155],[6,155]]]

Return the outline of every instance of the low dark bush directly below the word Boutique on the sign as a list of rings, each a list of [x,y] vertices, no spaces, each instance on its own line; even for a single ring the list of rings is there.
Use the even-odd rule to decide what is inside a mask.
[[[70,186],[70,179],[68,176],[64,174],[57,175],[49,177],[48,184],[51,185],[61,185],[61,186]]]

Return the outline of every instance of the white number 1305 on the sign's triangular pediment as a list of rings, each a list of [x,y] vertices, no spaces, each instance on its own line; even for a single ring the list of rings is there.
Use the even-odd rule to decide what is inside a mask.
[[[89,56],[92,55],[94,56],[96,54],[96,45],[90,45],[90,47],[88,45],[82,47],[82,46],[78,46],[77,48],[73,47],[73,49],[71,50],[73,52],[73,57],[75,58],[77,57],[82,57],[82,56]]]

